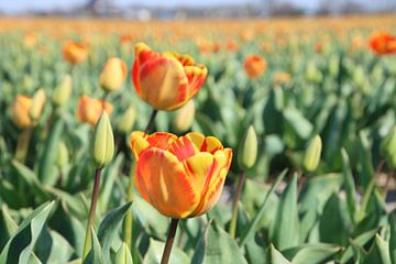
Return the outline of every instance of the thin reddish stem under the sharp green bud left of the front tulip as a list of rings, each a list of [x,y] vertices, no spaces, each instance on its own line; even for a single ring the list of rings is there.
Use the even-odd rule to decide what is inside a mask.
[[[95,170],[94,193],[92,193],[91,205],[90,205],[90,209],[89,209],[87,232],[86,232],[86,238],[85,238],[85,242],[84,242],[82,260],[88,255],[89,250],[90,250],[90,243],[91,243],[90,228],[94,227],[94,224],[95,224],[95,215],[96,215],[96,208],[97,208],[98,196],[99,196],[101,172],[102,172],[102,168],[97,168]]]

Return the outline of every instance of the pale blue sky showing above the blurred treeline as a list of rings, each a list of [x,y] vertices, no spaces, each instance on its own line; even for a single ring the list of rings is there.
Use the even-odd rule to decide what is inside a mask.
[[[268,0],[145,0],[143,3],[147,7],[213,7],[227,4],[265,4]],[[277,1],[277,0],[273,0]],[[292,2],[306,10],[312,10],[323,0],[282,0],[282,2]],[[326,0],[324,0],[326,1]],[[51,11],[54,9],[68,9],[82,6],[87,0],[0,0],[0,11],[8,13],[22,13],[26,11]],[[114,0],[119,7],[129,7],[132,4],[142,4],[141,0]],[[384,7],[395,3],[396,0],[354,0],[366,7]]]

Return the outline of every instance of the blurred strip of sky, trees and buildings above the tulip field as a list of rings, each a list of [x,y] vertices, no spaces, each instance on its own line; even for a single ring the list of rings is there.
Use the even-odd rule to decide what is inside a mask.
[[[395,12],[396,0],[13,0],[0,1],[2,15],[105,16],[131,20],[267,18]]]

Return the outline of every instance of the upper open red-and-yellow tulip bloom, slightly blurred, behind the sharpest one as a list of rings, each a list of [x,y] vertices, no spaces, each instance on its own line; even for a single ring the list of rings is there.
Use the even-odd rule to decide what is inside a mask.
[[[132,70],[134,88],[157,110],[175,110],[191,99],[204,85],[208,69],[189,55],[157,53],[138,43]]]

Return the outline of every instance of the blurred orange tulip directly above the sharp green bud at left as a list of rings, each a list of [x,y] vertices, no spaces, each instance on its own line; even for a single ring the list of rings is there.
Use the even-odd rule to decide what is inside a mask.
[[[110,116],[113,106],[110,102],[100,99],[82,96],[78,100],[77,118],[81,122],[95,125],[103,110]]]

